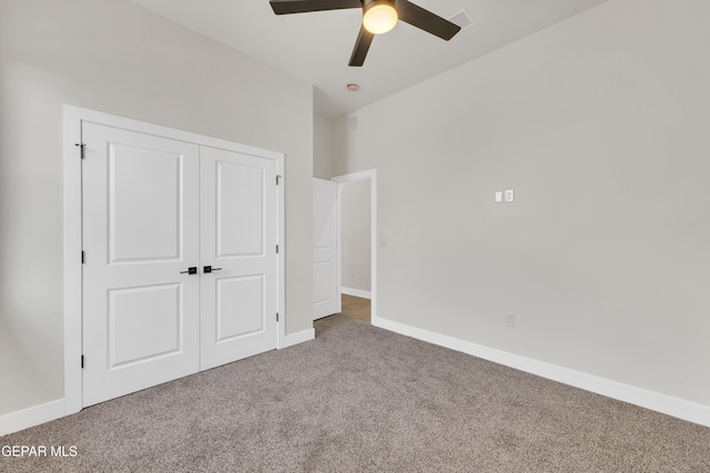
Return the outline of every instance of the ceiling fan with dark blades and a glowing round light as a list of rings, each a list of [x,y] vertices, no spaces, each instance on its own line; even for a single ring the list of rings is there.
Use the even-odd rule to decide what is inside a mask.
[[[446,41],[460,31],[459,25],[407,0],[270,0],[270,3],[276,14],[361,8],[363,25],[348,63],[352,66],[363,65],[375,34],[392,30],[397,24],[397,20]]]

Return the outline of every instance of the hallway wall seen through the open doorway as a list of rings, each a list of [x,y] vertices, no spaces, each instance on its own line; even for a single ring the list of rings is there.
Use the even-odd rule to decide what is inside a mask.
[[[369,179],[341,184],[341,285],[371,289]]]

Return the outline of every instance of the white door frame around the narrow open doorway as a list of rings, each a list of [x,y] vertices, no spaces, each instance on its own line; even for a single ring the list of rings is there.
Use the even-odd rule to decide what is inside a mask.
[[[343,184],[354,183],[356,181],[369,179],[369,228],[371,228],[371,243],[369,243],[369,319],[372,325],[376,325],[379,320],[377,318],[377,169],[362,171],[359,173],[345,174],[342,176],[333,177],[331,181],[337,183],[337,311],[343,310],[342,307],[342,228],[343,228]]]

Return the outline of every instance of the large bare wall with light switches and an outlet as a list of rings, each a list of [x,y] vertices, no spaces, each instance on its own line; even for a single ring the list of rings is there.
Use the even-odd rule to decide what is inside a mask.
[[[708,18],[610,0],[338,120],[379,317],[710,407]]]

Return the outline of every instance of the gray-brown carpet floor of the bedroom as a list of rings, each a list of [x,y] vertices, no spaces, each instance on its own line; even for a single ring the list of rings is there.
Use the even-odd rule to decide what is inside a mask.
[[[708,428],[343,316],[1,445],[78,453],[2,472],[710,472]]]

